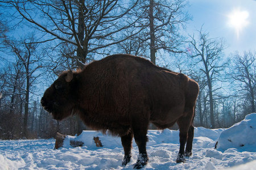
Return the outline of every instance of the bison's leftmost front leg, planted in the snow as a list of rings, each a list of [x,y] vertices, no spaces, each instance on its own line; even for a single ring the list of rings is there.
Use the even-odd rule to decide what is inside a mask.
[[[131,160],[131,148],[133,147],[131,144],[133,141],[133,133],[131,133],[130,131],[127,135],[122,136],[121,141],[122,141],[123,151],[125,151],[125,156],[123,157],[122,165],[126,165]]]

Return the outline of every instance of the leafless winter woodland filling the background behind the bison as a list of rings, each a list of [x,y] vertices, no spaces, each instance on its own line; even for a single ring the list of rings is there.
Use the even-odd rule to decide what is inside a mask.
[[[255,52],[225,54],[225,40],[203,27],[187,35],[188,7],[185,0],[0,1],[0,139],[86,129],[76,116],[53,120],[40,98],[61,71],[116,53],[199,82],[196,126],[228,128],[255,112]]]

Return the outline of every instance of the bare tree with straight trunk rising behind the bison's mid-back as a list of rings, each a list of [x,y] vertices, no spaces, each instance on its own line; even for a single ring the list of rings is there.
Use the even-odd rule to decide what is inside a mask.
[[[134,8],[134,15],[139,19],[138,27],[142,28],[140,36],[134,36],[141,48],[150,50],[150,59],[155,63],[156,52],[166,50],[180,53],[180,46],[184,41],[180,29],[183,28],[191,16],[185,11],[188,2],[185,0],[140,1]]]

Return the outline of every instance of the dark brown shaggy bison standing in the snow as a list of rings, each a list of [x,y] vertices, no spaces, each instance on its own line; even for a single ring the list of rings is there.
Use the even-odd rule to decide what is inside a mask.
[[[192,155],[193,117],[199,86],[188,76],[158,67],[142,57],[115,54],[80,71],[65,71],[44,92],[43,108],[56,120],[78,114],[85,125],[121,137],[130,162],[132,139],[139,156],[134,168],[148,162],[147,129],[177,122],[180,150],[176,162]],[[186,148],[185,148],[185,144]],[[185,150],[185,151],[184,151]]]

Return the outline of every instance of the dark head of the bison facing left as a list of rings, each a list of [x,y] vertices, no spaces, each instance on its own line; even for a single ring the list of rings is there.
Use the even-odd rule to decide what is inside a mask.
[[[63,120],[73,114],[76,108],[76,91],[76,78],[72,71],[66,71],[44,92],[42,107],[52,114],[55,120]]]

